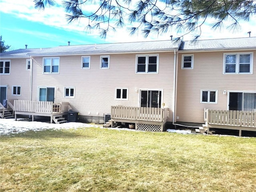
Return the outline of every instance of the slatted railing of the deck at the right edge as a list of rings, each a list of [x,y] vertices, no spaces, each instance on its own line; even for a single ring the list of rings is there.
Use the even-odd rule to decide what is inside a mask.
[[[206,124],[256,128],[256,112],[206,109]]]

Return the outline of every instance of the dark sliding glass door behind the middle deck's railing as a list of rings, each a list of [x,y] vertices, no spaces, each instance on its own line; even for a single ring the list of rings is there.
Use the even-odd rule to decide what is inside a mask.
[[[141,107],[158,107],[162,106],[162,91],[160,90],[141,90],[140,91]]]

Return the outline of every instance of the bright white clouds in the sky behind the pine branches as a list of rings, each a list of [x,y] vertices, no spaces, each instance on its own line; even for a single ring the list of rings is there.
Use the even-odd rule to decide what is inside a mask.
[[[62,0],[56,0],[56,2],[61,5]],[[95,5],[90,6],[90,10],[95,9]],[[89,9],[88,9],[89,10]],[[87,25],[88,20],[82,18],[79,22],[72,22],[68,24],[66,21],[66,12],[62,6],[54,6],[51,8],[46,7],[44,11],[39,11],[34,8],[34,2],[32,0],[2,0],[0,2],[0,12],[6,14],[15,15],[18,18],[26,19],[32,22],[38,22],[46,26],[52,26],[61,30],[72,31],[77,34],[85,34],[85,26]],[[223,29],[222,31],[214,31],[208,25],[202,26],[201,39],[212,39],[212,38],[233,38],[233,37],[244,37],[248,36],[247,32],[252,31],[251,36],[256,36],[253,29],[256,28],[256,16],[254,16],[251,22],[240,22],[241,30],[239,32],[233,33],[228,29]],[[212,22],[214,20],[208,20]],[[22,31],[23,33],[29,33],[26,30]],[[38,34],[42,32],[38,31]],[[175,30],[167,32],[163,35],[150,34],[146,40],[166,40],[170,39],[170,35],[177,37],[180,34],[177,34]],[[53,35],[44,33],[42,36],[49,37],[58,41],[58,38],[54,38]],[[89,38],[99,39],[100,34],[98,30],[93,30],[91,33],[86,33],[86,36]],[[184,36],[184,40],[191,40],[192,34]],[[106,40],[102,42],[135,42],[145,40],[141,34],[138,36],[130,36],[129,32],[125,29],[116,29],[116,32],[109,32],[107,34]],[[81,41],[82,42],[82,41]]]

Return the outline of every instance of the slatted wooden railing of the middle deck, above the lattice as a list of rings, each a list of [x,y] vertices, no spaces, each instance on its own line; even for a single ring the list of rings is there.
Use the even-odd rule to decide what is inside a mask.
[[[168,108],[111,106],[111,118],[166,122]]]

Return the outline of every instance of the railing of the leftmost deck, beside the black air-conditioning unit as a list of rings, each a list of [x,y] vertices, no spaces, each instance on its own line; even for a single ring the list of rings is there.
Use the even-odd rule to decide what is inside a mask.
[[[68,112],[68,102],[14,100],[14,111],[47,113]]]

